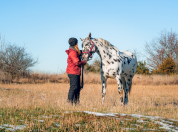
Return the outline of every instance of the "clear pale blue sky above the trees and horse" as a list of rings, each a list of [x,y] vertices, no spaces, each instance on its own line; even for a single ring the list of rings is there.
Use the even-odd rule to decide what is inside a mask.
[[[1,0],[0,34],[38,58],[35,71],[64,72],[68,39],[110,41],[119,50],[137,50],[162,30],[178,33],[177,0]],[[98,57],[94,55],[94,57]]]

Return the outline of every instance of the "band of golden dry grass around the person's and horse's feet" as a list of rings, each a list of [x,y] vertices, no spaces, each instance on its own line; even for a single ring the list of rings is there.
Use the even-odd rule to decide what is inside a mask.
[[[68,83],[1,84],[1,108],[61,111],[98,111],[156,115],[178,119],[178,85],[133,85],[129,104],[123,106],[116,84],[107,86],[106,100],[101,104],[101,85],[85,84],[80,105],[67,103]]]

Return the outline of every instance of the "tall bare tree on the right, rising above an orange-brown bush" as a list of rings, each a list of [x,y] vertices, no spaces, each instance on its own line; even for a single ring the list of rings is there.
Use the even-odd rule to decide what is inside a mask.
[[[148,53],[147,64],[152,69],[157,69],[165,58],[178,58],[178,37],[177,33],[161,32],[159,38],[145,44],[145,51]]]

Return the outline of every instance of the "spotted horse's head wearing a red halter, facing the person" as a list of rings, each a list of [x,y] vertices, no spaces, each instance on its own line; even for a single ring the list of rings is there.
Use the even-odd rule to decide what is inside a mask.
[[[89,58],[92,58],[92,54],[95,53],[96,47],[93,44],[91,39],[91,33],[89,33],[88,37],[82,40],[82,60],[88,61]]]

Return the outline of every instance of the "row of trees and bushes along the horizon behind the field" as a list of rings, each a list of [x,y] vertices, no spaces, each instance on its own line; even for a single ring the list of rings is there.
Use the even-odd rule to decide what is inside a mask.
[[[137,74],[178,74],[178,35],[172,31],[162,31],[158,38],[146,42],[146,59],[138,61]],[[136,53],[137,56],[137,53]],[[5,76],[9,80],[30,76],[30,68],[38,59],[32,57],[24,46],[6,43],[0,35],[0,80]],[[100,72],[100,60],[86,64],[85,72]]]

